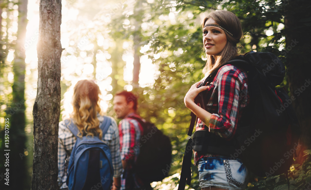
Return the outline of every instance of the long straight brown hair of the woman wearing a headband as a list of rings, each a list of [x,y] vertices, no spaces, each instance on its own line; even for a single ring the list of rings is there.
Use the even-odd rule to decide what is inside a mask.
[[[209,18],[215,20],[217,24],[228,30],[230,33],[233,34],[233,36],[225,32],[227,37],[227,44],[225,45],[220,55],[215,56],[215,58],[213,55],[207,55],[207,62],[205,67],[203,68],[204,74],[211,73],[215,69],[221,67],[223,64],[237,56],[237,44],[243,37],[241,22],[239,18],[232,12],[220,10],[209,13],[201,22],[202,29],[204,28],[205,22]]]

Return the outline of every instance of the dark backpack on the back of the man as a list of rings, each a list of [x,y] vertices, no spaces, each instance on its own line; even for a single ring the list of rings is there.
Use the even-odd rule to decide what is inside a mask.
[[[144,182],[162,181],[168,176],[172,161],[172,145],[168,136],[164,135],[153,123],[137,120],[143,128],[140,139],[139,155],[134,163],[134,172]]]

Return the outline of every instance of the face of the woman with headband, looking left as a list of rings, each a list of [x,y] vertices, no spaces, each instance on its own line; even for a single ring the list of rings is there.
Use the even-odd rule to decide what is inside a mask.
[[[216,24],[214,19],[209,18],[205,24]],[[207,55],[220,55],[227,44],[225,31],[217,26],[205,26],[203,28],[203,44]]]

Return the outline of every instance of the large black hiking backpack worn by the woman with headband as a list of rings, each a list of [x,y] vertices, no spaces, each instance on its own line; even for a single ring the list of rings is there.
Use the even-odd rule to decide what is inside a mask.
[[[202,151],[202,154],[240,158],[255,175],[269,177],[287,173],[300,146],[299,123],[291,105],[295,97],[290,98],[284,88],[275,87],[281,84],[285,76],[283,63],[272,53],[249,52],[226,64],[232,64],[248,72],[250,102],[238,121],[233,139],[228,141],[206,130],[193,134],[183,158],[179,190],[184,189],[186,180],[190,185],[192,152],[190,155],[187,151],[190,148]],[[211,73],[202,85],[209,85],[217,72],[218,70],[215,70]],[[196,102],[202,108],[205,105],[204,97],[203,91],[196,98]],[[192,135],[196,121],[193,113],[192,116],[189,136]]]

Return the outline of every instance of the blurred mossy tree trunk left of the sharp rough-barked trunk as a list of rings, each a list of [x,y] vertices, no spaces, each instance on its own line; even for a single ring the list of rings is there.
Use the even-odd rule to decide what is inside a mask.
[[[26,142],[25,125],[25,49],[27,26],[27,0],[20,0],[18,4],[18,29],[17,40],[14,52],[13,72],[14,83],[12,86],[13,100],[9,114],[11,115],[11,138],[10,149],[12,153],[12,163],[18,167],[10,168],[10,189],[26,187],[26,159],[24,148]],[[28,179],[29,180],[29,179]],[[30,188],[28,186],[28,188]]]

